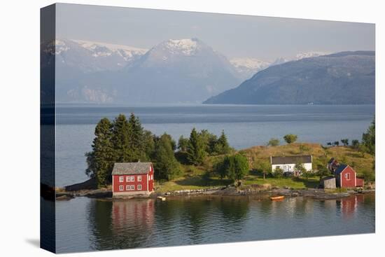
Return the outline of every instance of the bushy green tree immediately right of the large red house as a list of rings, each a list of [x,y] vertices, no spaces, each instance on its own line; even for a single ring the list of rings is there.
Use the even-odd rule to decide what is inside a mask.
[[[156,140],[154,165],[157,179],[172,180],[181,174],[181,166],[174,156],[172,140],[168,134],[162,134]]]

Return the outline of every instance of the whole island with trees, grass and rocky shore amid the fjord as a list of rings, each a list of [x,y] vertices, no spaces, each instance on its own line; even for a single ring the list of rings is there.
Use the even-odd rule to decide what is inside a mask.
[[[134,113],[128,119],[120,114],[112,122],[102,118],[95,127],[92,151],[85,153],[85,172],[90,179],[56,188],[56,196],[57,200],[75,196],[109,198],[114,164],[124,162],[152,163],[154,190],[146,197],[279,194],[332,199],[370,192],[375,188],[374,130],[373,120],[360,141],[341,139],[323,146],[297,142],[295,134],[286,134],[285,144],[273,138],[265,146],[237,151],[229,145],[224,131],[217,136],[193,128],[189,138],[181,136],[176,142],[169,134],[157,136],[144,130]],[[293,159],[291,172],[288,165],[274,164],[273,157]],[[321,182],[334,175],[339,164],[349,167],[355,181],[365,184],[323,188]]]

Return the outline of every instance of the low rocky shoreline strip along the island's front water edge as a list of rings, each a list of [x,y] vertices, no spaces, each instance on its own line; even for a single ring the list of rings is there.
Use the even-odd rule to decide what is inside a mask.
[[[307,189],[290,189],[290,188],[235,188],[234,186],[191,189],[191,190],[175,190],[166,193],[156,192],[146,197],[156,198],[158,196],[178,197],[178,196],[194,196],[194,195],[217,195],[217,196],[258,196],[260,198],[268,198],[276,195],[284,195],[286,197],[310,197],[316,200],[333,200],[349,195],[374,193],[375,190],[348,190],[346,192],[330,192],[328,190],[307,188]],[[94,190],[77,190],[77,191],[59,191],[56,192],[56,200],[71,200],[74,197],[90,197],[112,199],[112,191],[109,189],[94,189]],[[143,195],[138,195],[132,198],[143,198]],[[119,198],[124,200],[125,198]]]

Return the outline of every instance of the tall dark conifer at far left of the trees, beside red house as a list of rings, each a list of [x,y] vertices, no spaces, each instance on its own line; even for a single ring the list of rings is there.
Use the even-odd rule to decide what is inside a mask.
[[[111,144],[111,122],[102,118],[95,127],[92,152],[86,153],[88,167],[86,174],[95,177],[99,187],[106,186],[113,168],[113,146]]]

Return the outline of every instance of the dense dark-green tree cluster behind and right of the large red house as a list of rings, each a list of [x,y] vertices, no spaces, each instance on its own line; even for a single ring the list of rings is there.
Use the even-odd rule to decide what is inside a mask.
[[[179,138],[178,144],[169,134],[156,136],[144,130],[138,117],[120,114],[112,122],[102,118],[97,123],[92,141],[92,151],[85,153],[85,173],[97,179],[99,187],[111,183],[115,162],[153,162],[156,179],[172,180],[182,173],[176,154],[187,155],[188,164],[202,165],[208,155],[228,154],[233,149],[225,132],[217,137],[208,130],[195,128],[189,138]]]

